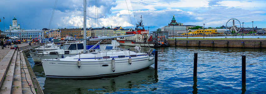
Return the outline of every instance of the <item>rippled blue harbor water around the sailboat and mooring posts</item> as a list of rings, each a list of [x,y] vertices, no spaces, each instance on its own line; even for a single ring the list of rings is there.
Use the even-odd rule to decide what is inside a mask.
[[[101,49],[106,45],[115,44],[104,44]],[[27,58],[45,94],[266,93],[265,49],[174,46],[155,49],[158,50],[158,70],[151,65],[139,72],[97,79],[46,78],[42,65],[35,64],[29,55]],[[197,81],[193,81],[194,53],[198,53]],[[247,57],[246,91],[241,82],[242,55]]]

